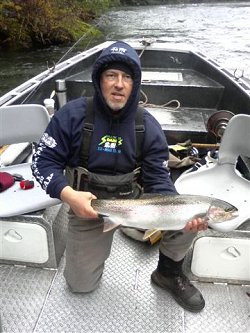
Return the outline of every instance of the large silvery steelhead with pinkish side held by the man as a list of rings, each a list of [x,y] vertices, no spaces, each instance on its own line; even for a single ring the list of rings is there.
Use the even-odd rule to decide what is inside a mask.
[[[195,217],[219,223],[237,217],[237,208],[200,195],[149,195],[140,199],[95,199],[92,207],[108,223],[136,229],[180,230]]]

